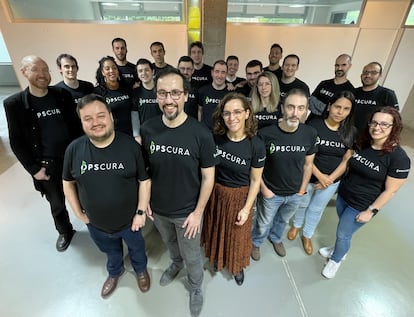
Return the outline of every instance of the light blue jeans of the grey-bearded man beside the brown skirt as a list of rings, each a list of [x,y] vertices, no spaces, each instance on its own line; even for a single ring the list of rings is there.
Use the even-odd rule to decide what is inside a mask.
[[[303,197],[293,194],[264,198],[262,194],[259,194],[256,205],[256,223],[252,233],[253,245],[260,247],[268,236],[271,242],[281,242],[286,224],[299,207]]]

